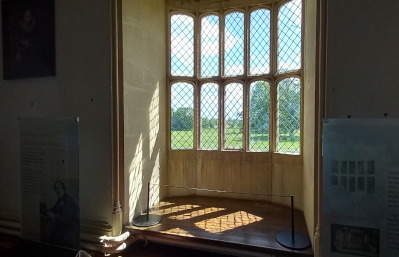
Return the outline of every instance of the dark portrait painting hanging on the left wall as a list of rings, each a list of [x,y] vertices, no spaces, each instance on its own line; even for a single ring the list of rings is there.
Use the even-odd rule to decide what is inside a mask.
[[[55,75],[54,0],[2,1],[3,78]]]

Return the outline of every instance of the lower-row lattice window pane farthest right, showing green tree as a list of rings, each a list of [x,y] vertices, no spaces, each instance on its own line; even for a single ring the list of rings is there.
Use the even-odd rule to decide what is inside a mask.
[[[299,154],[301,81],[288,78],[277,88],[277,152]]]

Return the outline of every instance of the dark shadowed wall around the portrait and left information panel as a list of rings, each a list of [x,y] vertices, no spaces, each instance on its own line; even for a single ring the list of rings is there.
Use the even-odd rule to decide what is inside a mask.
[[[4,81],[0,62],[0,213],[20,211],[17,117],[78,116],[81,218],[111,223],[110,10],[55,0],[55,77]]]

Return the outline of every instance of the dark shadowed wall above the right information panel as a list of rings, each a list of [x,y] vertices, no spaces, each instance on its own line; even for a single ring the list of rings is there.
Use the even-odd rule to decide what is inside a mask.
[[[399,2],[328,0],[327,118],[399,117]]]

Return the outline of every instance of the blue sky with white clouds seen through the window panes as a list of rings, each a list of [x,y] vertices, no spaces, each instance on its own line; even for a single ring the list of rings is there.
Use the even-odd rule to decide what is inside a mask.
[[[298,8],[299,7],[299,8]],[[296,70],[301,63],[301,0],[293,0],[279,11],[278,70]],[[220,56],[219,17],[201,19],[201,74],[200,77],[219,75],[219,61],[224,58],[224,76],[234,77],[244,73],[244,14],[230,13],[225,18],[224,51]],[[186,15],[171,17],[171,74],[194,76],[194,20]],[[250,16],[250,75],[270,72],[270,12],[256,10]],[[226,99],[226,109],[242,108],[242,87],[231,85],[231,99]],[[191,107],[192,89],[182,89],[182,99],[172,90],[172,107]],[[227,90],[227,89],[226,89]],[[235,95],[233,97],[233,95]],[[216,101],[215,101],[216,100]],[[217,103],[217,93],[208,92],[203,101],[212,106]],[[238,106],[237,106],[238,105]],[[215,106],[217,108],[217,106]],[[235,114],[230,113],[228,118]]]

